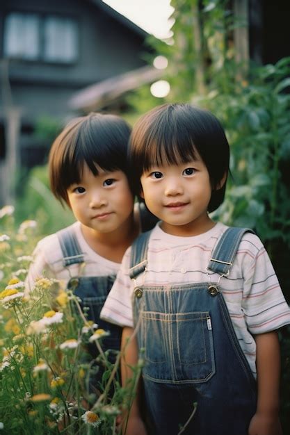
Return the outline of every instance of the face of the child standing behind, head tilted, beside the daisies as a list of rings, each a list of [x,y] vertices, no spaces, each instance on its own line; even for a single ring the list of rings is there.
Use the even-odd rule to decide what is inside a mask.
[[[99,233],[111,233],[131,217],[134,197],[124,172],[97,169],[95,176],[85,163],[81,182],[72,184],[67,195],[76,220]]]

